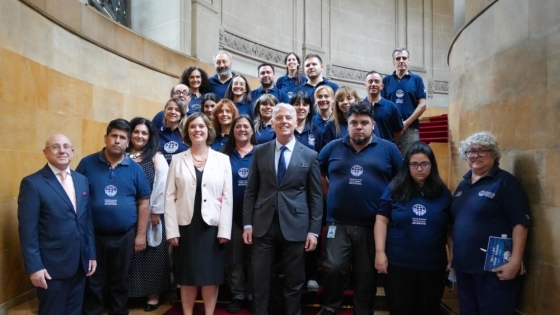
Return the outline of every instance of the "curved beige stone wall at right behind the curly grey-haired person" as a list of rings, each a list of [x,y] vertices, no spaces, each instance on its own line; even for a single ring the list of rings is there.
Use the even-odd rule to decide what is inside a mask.
[[[494,133],[501,166],[521,181],[533,219],[519,310],[560,314],[560,2],[469,0],[464,14],[449,53],[452,185],[467,170],[459,141]]]

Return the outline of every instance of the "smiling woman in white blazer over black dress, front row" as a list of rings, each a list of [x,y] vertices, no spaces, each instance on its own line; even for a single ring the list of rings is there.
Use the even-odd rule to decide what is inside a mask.
[[[216,133],[203,113],[181,128],[190,149],[173,156],[165,189],[166,234],[174,246],[174,272],[183,314],[192,314],[198,287],[213,314],[224,282],[224,243],[231,238],[232,179],[229,157],[210,148]]]

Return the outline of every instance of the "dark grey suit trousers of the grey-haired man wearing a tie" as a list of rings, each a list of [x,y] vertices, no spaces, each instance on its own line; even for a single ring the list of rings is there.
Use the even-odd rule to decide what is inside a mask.
[[[284,267],[285,314],[301,314],[301,291],[305,281],[304,247],[305,242],[290,242],[284,239],[278,216],[274,216],[269,230],[263,237],[253,237],[253,315],[268,314],[272,261],[276,251],[280,251]]]

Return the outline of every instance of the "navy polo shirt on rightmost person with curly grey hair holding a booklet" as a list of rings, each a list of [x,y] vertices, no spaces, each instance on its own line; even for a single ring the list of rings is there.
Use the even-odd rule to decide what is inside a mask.
[[[472,274],[484,274],[490,236],[512,237],[513,227],[530,225],[525,192],[515,176],[498,165],[471,185],[468,171],[453,195],[453,268]]]

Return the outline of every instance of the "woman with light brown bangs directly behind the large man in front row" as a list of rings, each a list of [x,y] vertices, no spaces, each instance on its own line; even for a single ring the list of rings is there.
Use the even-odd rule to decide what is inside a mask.
[[[338,90],[336,90],[334,95],[333,114],[325,126],[325,133],[323,133],[321,148],[332,140],[342,138],[348,134],[348,114],[346,111],[352,103],[359,100],[360,97],[358,96],[358,92],[349,86],[341,86]]]

